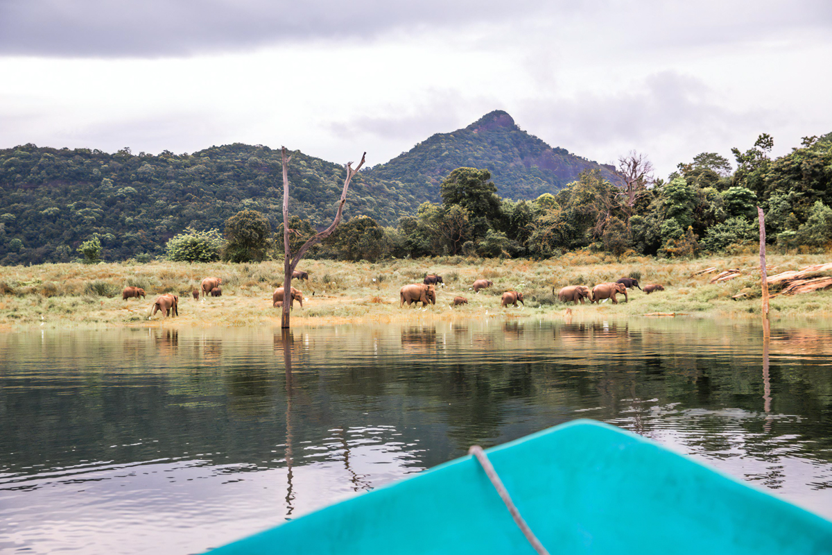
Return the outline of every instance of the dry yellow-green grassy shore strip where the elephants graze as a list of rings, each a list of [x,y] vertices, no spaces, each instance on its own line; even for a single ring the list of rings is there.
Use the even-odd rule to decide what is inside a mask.
[[[770,255],[775,271],[798,270],[829,260],[825,255]],[[724,255],[696,260],[656,260],[633,257],[616,260],[608,255],[568,253],[548,260],[468,260],[444,257],[420,260],[384,260],[377,263],[305,260],[299,269],[310,273],[309,282],[293,282],[305,295],[304,307],[295,306],[292,325],[329,325],[362,322],[414,323],[436,320],[503,317],[632,317],[651,312],[685,313],[692,317],[743,318],[760,315],[759,258],[756,255]],[[741,268],[745,274],[726,283],[711,284],[711,276],[691,276],[716,266]],[[418,283],[425,272],[443,275],[437,304],[422,309],[399,309],[399,288]],[[223,296],[193,300],[206,276],[223,278]],[[642,287],[659,283],[666,287],[652,295],[631,290],[630,302],[612,305],[563,305],[552,288],[595,285],[636,275]],[[271,306],[271,294],[282,280],[278,262],[260,264],[185,264],[126,261],[98,265],[47,264],[0,268],[0,329],[78,325],[146,326],[279,326],[280,314]],[[474,294],[473,280],[493,280],[490,290]],[[145,300],[122,300],[126,285],[143,287]],[[500,308],[500,295],[518,290],[526,297],[522,308]],[[180,317],[146,320],[157,295],[180,295]],[[313,295],[314,292],[314,295]],[[748,299],[732,300],[740,292]],[[456,295],[468,305],[451,308]],[[622,301],[623,299],[619,297]],[[832,291],[782,295],[771,300],[774,318],[832,316]]]

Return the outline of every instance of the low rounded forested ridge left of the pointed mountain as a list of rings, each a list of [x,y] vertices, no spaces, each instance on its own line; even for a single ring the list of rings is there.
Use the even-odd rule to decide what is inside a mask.
[[[360,153],[357,153],[360,154]],[[329,223],[344,167],[296,153],[290,164],[292,214]],[[416,201],[398,184],[359,174],[344,216],[394,223]],[[280,225],[280,150],[234,144],[192,155],[108,154],[34,145],[0,150],[0,263],[69,260],[93,233],[107,260],[160,254],[188,225],[222,229],[244,208]]]

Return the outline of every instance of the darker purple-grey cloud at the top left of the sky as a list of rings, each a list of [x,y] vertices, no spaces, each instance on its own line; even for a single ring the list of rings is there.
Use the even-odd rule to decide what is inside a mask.
[[[523,14],[532,0],[513,2]],[[375,37],[398,27],[463,26],[506,17],[497,0],[5,0],[0,53],[158,57],[280,42]]]

